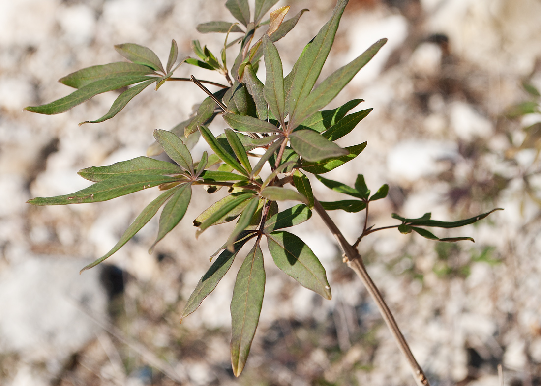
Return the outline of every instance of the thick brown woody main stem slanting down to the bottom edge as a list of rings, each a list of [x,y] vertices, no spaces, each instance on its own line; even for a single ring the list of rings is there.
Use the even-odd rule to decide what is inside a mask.
[[[370,293],[370,296],[372,296],[372,299],[377,304],[383,320],[387,324],[387,327],[391,330],[391,334],[393,335],[394,340],[397,342],[400,351],[402,351],[402,354],[405,356],[406,361],[410,365],[410,369],[413,373],[413,377],[415,378],[415,382],[418,386],[430,386],[428,378],[426,377],[419,363],[417,363],[417,361],[415,360],[415,357],[413,356],[411,349],[408,346],[406,339],[404,338],[404,335],[401,333],[397,322],[394,320],[394,316],[391,313],[391,310],[387,306],[387,303],[385,303],[383,296],[381,296],[378,287],[375,286],[372,278],[370,277],[370,275],[368,275],[365,265],[362,262],[361,256],[359,255],[357,250],[353,248],[349,244],[349,242],[347,242],[342,232],[340,232],[340,229],[338,229],[337,225],[334,224],[334,221],[329,217],[325,209],[315,198],[314,208],[315,211],[318,212],[318,214],[320,215],[321,219],[325,222],[327,228],[329,228],[331,233],[337,239],[340,248],[342,249],[342,252],[344,252],[344,255],[346,257],[345,262],[347,263],[347,266],[353,269],[357,276],[359,276],[362,283],[368,290],[368,293]]]

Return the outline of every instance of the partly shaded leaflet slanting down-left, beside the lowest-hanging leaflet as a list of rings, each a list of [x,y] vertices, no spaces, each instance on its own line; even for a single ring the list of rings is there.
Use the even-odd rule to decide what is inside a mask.
[[[222,280],[222,277],[225,276],[233,264],[236,254],[248,240],[249,239],[243,239],[236,242],[235,252],[229,252],[226,249],[220,254],[219,258],[214,261],[214,264],[210,266],[207,272],[201,277],[194,289],[194,292],[192,295],[190,295],[186,305],[182,309],[180,314],[181,322],[182,319],[193,313],[193,311],[195,311],[201,305],[205,297],[213,292],[214,288],[216,288],[220,280]]]

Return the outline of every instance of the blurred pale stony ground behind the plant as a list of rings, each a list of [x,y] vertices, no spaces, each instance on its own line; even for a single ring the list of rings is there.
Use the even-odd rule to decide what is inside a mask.
[[[250,2],[250,4],[253,2]],[[101,266],[156,189],[98,204],[31,207],[29,198],[88,185],[76,172],[146,153],[152,131],[188,118],[204,94],[191,83],[143,91],[114,119],[102,94],[58,116],[22,112],[70,92],[70,72],[123,60],[113,48],[138,43],[167,59],[200,39],[214,52],[222,35],[198,23],[233,18],[223,0],[0,1],[0,384],[41,385],[412,385],[375,304],[317,216],[294,228],[324,264],[326,301],[283,275],[267,258],[265,300],[243,374],[230,370],[229,302],[235,266],[194,314],[179,315],[208,257],[230,225],[195,240],[194,219],[223,197],[194,191],[179,226],[147,250],[154,219]],[[331,0],[280,1],[284,71],[331,15]],[[322,77],[382,37],[388,43],[330,107],[363,98],[373,111],[340,145],[366,150],[326,175],[375,191],[369,225],[414,218],[467,218],[504,208],[476,225],[436,229],[476,242],[436,243],[396,229],[359,250],[433,385],[541,384],[541,1],[351,0]],[[193,55],[193,54],[192,54]],[[230,54],[230,55],[233,55]],[[233,59],[231,59],[233,60]],[[262,65],[262,67],[264,67]],[[223,82],[183,65],[175,76]],[[264,68],[260,70],[260,78]],[[262,77],[264,79],[264,77]],[[216,119],[215,133],[224,124]],[[205,150],[203,143],[194,158]],[[338,199],[318,181],[314,193]],[[331,213],[352,242],[363,215]],[[268,255],[266,255],[268,256]]]

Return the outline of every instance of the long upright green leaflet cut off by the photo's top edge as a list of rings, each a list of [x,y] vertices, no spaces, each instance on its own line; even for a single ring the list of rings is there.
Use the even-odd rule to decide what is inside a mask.
[[[301,115],[297,113],[297,106],[299,103],[303,103],[304,100],[308,97],[308,94],[312,91],[312,87],[316,80],[318,80],[319,74],[329,51],[334,42],[334,36],[338,30],[338,24],[340,23],[340,18],[348,0],[338,0],[337,5],[335,6],[332,16],[329,21],[321,27],[318,32],[318,35],[309,43],[307,50],[301,55],[298,62],[295,78],[293,79],[293,84],[291,87],[291,92],[289,93],[289,116],[300,118]],[[319,109],[316,109],[317,111]],[[307,114],[304,118],[296,120],[301,122],[303,119],[308,117],[310,114]],[[291,125],[290,119],[290,125]],[[291,127],[293,128],[293,126]]]

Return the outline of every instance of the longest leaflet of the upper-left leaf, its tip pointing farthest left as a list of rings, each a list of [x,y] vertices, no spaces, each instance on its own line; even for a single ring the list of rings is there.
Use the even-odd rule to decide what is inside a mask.
[[[38,114],[60,114],[70,110],[90,98],[107,91],[121,89],[134,83],[144,82],[145,80],[156,80],[155,77],[144,75],[121,75],[115,78],[97,80],[87,84],[80,89],[72,92],[67,97],[57,99],[51,103],[40,106],[28,106],[24,110]]]

